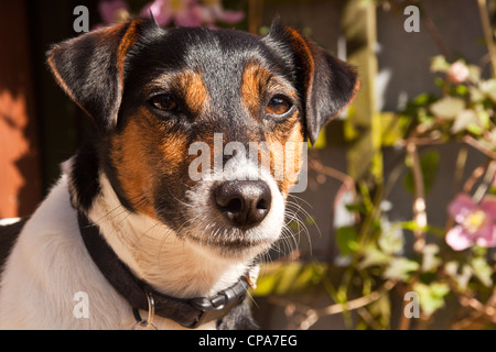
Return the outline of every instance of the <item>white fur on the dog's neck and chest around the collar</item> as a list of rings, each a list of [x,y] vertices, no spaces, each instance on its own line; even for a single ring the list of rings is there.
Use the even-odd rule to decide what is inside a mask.
[[[245,263],[209,263],[162,226],[129,215],[112,204],[117,197],[105,183],[90,219],[121,260],[155,289],[182,297],[209,295],[233,285],[247,270]],[[0,329],[130,329],[134,323],[131,307],[86,251],[67,176],[25,224],[0,287]],[[154,323],[159,329],[181,328],[160,317]],[[201,328],[213,329],[215,323]]]

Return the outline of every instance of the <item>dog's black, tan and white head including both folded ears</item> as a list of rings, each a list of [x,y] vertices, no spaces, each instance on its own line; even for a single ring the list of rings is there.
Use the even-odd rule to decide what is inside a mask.
[[[274,177],[284,146],[314,142],[358,89],[346,64],[279,23],[258,37],[134,20],[60,44],[48,63],[94,119],[98,170],[121,204],[224,257],[279,238],[295,182]],[[268,163],[246,157],[250,143]],[[98,187],[78,188],[87,210]]]

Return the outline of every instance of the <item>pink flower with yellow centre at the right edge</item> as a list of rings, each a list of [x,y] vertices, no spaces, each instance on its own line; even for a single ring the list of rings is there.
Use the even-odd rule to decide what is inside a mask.
[[[484,248],[496,246],[496,198],[486,196],[476,205],[465,194],[456,196],[449,212],[456,226],[446,233],[446,243],[455,251],[463,251],[474,243]]]

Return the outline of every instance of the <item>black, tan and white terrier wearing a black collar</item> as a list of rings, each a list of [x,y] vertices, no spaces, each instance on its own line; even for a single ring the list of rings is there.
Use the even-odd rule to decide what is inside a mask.
[[[0,328],[256,329],[246,292],[295,183],[273,176],[272,146],[314,143],[355,98],[355,69],[280,20],[256,36],[132,19],[47,64],[91,131],[35,212],[2,228]],[[214,142],[263,142],[271,162],[224,153],[214,177],[195,142],[213,158]]]

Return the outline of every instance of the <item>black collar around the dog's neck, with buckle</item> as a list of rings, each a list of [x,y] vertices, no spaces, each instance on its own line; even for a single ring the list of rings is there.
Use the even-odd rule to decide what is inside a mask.
[[[174,320],[188,329],[222,319],[246,297],[247,277],[241,277],[234,286],[208,298],[184,299],[161,294],[132,274],[107,244],[98,227],[82,211],[77,211],[77,220],[83,241],[93,261],[114,288],[131,305],[138,322],[141,321],[138,309],[149,309],[150,296],[154,301],[155,315]]]

